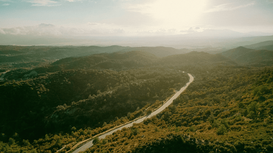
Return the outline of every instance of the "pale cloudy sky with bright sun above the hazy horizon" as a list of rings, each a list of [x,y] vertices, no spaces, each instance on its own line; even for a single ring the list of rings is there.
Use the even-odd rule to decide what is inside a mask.
[[[273,0],[0,0],[0,34],[164,36],[273,33]]]

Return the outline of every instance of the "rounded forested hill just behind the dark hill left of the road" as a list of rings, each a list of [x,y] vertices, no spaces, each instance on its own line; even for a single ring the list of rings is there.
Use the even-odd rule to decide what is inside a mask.
[[[69,57],[34,69],[21,68],[9,71],[6,73],[4,79],[26,80],[36,77],[36,74],[35,76],[31,74],[33,71],[35,71],[37,74],[69,69],[112,69],[120,71],[130,68],[149,66],[157,60],[158,58],[154,55],[138,51],[125,53],[103,53],[85,57]]]

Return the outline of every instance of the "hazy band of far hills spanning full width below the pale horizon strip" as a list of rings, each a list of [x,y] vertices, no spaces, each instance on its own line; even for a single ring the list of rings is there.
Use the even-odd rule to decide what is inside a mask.
[[[268,36],[269,37],[269,36]],[[225,49],[227,50],[227,49]],[[55,69],[115,68],[144,66],[155,61],[163,63],[228,62],[229,64],[272,64],[273,40],[235,47],[224,51],[219,48],[176,49],[172,47],[128,46],[0,46],[0,63],[56,61]],[[197,52],[192,52],[197,51]],[[191,52],[191,53],[190,53]],[[213,53],[217,55],[210,55]],[[162,58],[162,59],[160,59]],[[61,59],[61,60],[59,60]],[[159,60],[160,59],[160,60]],[[127,64],[125,64],[127,63]],[[57,65],[65,65],[59,67]],[[73,65],[70,67],[69,65]],[[122,66],[121,66],[122,65]],[[22,65],[21,65],[22,66]],[[57,66],[57,67],[56,67]]]

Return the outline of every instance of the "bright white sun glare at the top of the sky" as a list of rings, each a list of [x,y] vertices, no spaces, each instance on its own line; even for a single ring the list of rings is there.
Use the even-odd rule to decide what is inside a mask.
[[[205,0],[159,0],[150,4],[146,13],[172,26],[194,24],[205,8]]]

